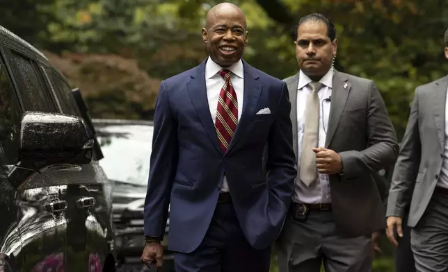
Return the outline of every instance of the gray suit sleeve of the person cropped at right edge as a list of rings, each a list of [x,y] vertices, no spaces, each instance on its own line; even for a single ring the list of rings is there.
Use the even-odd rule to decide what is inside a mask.
[[[422,158],[422,144],[419,133],[418,89],[415,90],[413,105],[410,109],[408,126],[401,142],[400,154],[394,167],[392,182],[387,198],[386,216],[403,218],[410,203],[415,179]]]

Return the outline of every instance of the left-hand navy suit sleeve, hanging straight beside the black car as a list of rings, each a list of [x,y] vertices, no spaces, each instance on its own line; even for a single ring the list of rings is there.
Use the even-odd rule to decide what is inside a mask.
[[[154,112],[154,133],[150,174],[145,198],[145,235],[163,237],[171,187],[177,168],[177,122],[170,108],[165,83],[162,81]]]

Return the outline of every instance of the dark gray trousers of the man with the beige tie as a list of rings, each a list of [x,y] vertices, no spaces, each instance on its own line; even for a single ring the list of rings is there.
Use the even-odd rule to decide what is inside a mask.
[[[371,236],[339,235],[331,211],[311,210],[306,221],[289,214],[275,247],[280,272],[370,272]]]

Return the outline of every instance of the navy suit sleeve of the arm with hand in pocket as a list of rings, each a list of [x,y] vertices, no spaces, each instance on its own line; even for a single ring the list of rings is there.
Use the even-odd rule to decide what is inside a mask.
[[[266,171],[271,193],[288,209],[294,192],[297,171],[294,148],[292,147],[292,123],[289,117],[291,103],[286,83],[282,83],[282,92],[277,107],[278,112],[269,133]]]

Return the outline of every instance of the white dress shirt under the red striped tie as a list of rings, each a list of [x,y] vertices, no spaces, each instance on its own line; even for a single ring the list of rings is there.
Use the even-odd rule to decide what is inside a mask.
[[[221,71],[223,67],[218,65],[216,62],[209,59],[205,64],[205,85],[207,86],[207,100],[209,101],[209,108],[211,119],[215,123],[216,110],[218,109],[218,98],[223,87],[225,80],[222,78],[218,71]],[[238,100],[238,121],[241,118],[241,112],[243,111],[243,89],[244,89],[244,69],[243,62],[239,60],[234,65],[227,67],[232,74],[230,74],[230,81],[232,81],[233,88],[237,93]],[[227,179],[224,176],[223,187],[221,187],[221,192],[229,192],[229,185],[227,184]]]

